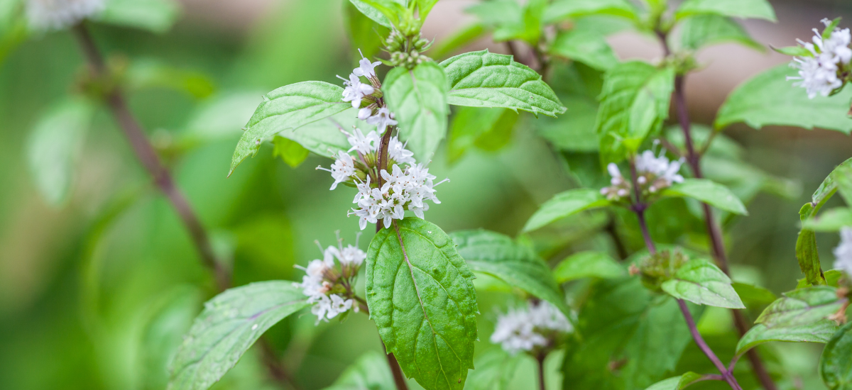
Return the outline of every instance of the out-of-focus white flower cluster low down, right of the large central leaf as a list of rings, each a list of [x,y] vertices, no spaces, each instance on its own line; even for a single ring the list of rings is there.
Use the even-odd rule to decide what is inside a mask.
[[[556,339],[573,331],[559,309],[545,301],[528,302],[526,308],[510,308],[497,319],[491,342],[510,354],[553,347]]]

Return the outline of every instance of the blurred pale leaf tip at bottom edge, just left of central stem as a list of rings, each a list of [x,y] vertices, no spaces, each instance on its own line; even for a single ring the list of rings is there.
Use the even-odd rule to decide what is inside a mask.
[[[325,390],[396,390],[394,374],[383,353],[370,351],[348,366]]]

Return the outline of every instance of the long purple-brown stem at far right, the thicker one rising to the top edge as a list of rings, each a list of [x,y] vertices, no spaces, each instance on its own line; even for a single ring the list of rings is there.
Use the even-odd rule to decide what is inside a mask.
[[[669,45],[665,39],[665,33],[658,32],[657,35],[660,43],[663,45],[665,54],[671,54],[671,49],[669,49]],[[684,78],[684,75],[677,75],[675,77],[675,91],[672,98],[675,103],[677,120],[683,131],[683,140],[687,149],[686,160],[689,164],[689,168],[692,169],[695,178],[702,179],[704,178],[704,175],[701,172],[702,153],[695,152],[686,94],[684,93],[683,88]],[[710,139],[708,139],[702,147],[702,152],[710,147],[710,143],[714,135],[716,135],[715,132],[711,134]],[[722,239],[722,228],[715,221],[713,211],[709,204],[702,203],[701,209],[704,211],[704,221],[707,228],[707,235],[710,238],[712,255],[716,259],[719,268],[722,269],[722,272],[725,272],[726,275],[730,276],[730,270],[728,269],[728,255],[725,253],[725,245]],[[737,329],[737,333],[740,334],[740,337],[746,335],[746,332],[749,330],[749,324],[746,322],[746,318],[743,317],[742,313],[734,309],[731,310],[731,315],[734,317],[734,326]],[[778,387],[775,386],[772,377],[769,376],[769,371],[767,371],[766,366],[763,365],[763,360],[761,360],[760,355],[757,354],[757,350],[750,349],[746,353],[746,357],[748,357],[749,362],[751,363],[751,368],[754,370],[754,375],[757,376],[757,380],[760,381],[763,388],[765,390],[777,390]]]

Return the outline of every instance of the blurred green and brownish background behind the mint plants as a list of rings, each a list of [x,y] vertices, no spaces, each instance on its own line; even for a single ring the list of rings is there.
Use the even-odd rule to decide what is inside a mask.
[[[473,3],[442,0],[425,35],[440,41],[463,26],[462,10]],[[773,3],[779,24],[746,27],[758,42],[776,46],[792,44],[790,37],[809,37],[822,17],[852,17],[852,7],[840,0]],[[359,232],[358,221],[346,215],[353,192],[328,191],[331,178],[314,170],[329,165],[325,158],[312,155],[293,169],[265,145],[226,178],[239,128],[262,94],[303,80],[338,83],[336,74],[350,72],[359,56],[345,34],[343,4],[187,1],[181,20],[163,34],[92,26],[101,49],[131,64],[128,72],[138,85],[129,91],[130,106],[210,229],[216,249],[233,261],[234,284],[299,279],[301,272],[292,266],[320,256],[314,240],[333,244],[339,230],[352,242]],[[612,43],[623,58],[653,58],[653,52],[631,44],[643,40],[650,42],[645,48],[653,48],[647,37],[618,36]],[[483,47],[503,51],[487,39],[469,49]],[[707,67],[688,82],[690,109],[699,121],[713,118],[721,103],[714,96],[723,98],[736,83],[784,60],[738,53],[724,45],[699,56]],[[215,294],[187,232],[103,109],[85,138],[66,202],[52,206],[37,191],[26,163],[28,136],[38,118],[75,88],[82,65],[67,32],[31,37],[0,64],[3,389],[164,388],[170,353],[201,302]],[[727,90],[720,92],[719,85]],[[482,227],[515,236],[538,204],[577,186],[564,156],[536,134],[535,120],[522,115],[510,146],[496,152],[472,150],[450,164],[441,146],[430,169],[451,181],[438,188],[441,204],[429,209],[427,219],[447,232]],[[744,146],[746,161],[801,188],[789,198],[757,195],[748,205],[751,215],[730,221],[727,237],[735,273],[776,293],[790,290],[800,278],[797,210],[836,164],[852,156],[852,141],[823,130],[745,126],[728,135]],[[371,237],[367,229],[362,249]],[[601,233],[560,251],[596,247],[604,239]],[[818,239],[823,262],[830,263],[838,238]],[[491,347],[491,321],[505,307],[504,298],[481,293],[477,351]],[[270,338],[305,389],[330,384],[361,353],[381,350],[374,324],[358,315],[345,324],[314,327],[313,316],[305,314],[273,328]],[[792,351],[791,364],[815,374],[819,350]],[[558,357],[548,364],[556,388]],[[513,383],[532,387],[532,360],[522,364]],[[275,387],[249,353],[216,388]]]

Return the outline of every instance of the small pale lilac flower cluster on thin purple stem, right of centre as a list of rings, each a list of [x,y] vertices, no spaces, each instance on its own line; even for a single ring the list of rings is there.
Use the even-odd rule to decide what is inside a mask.
[[[636,156],[634,162],[636,164],[636,184],[642,193],[653,194],[659,192],[673,183],[683,181],[683,176],[677,172],[681,169],[683,159],[669,161],[665,158],[665,152],[660,152],[659,156],[653,154],[652,151],[645,151]],[[607,171],[612,176],[610,180],[611,186],[605,186],[601,189],[601,194],[609,200],[624,200],[630,197],[632,188],[630,181],[626,180],[619,171],[619,166],[615,163],[607,165]]]

